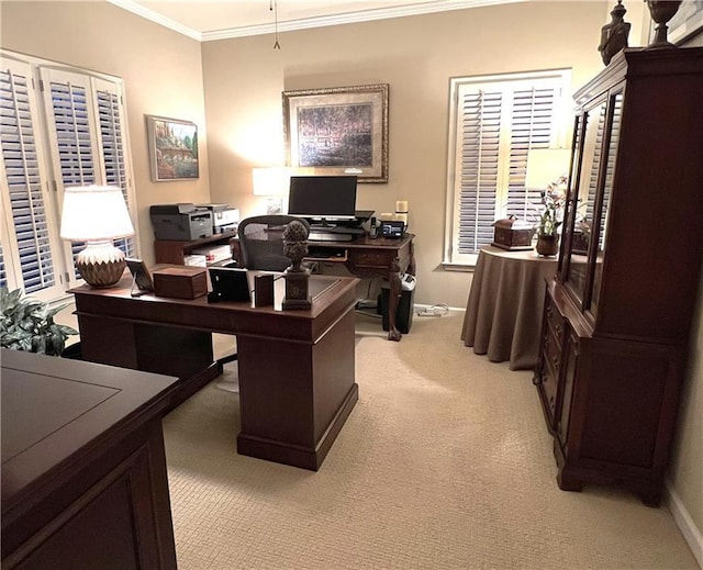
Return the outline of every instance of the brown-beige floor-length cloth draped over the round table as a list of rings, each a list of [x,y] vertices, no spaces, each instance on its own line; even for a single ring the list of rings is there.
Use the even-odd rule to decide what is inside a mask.
[[[481,249],[471,282],[461,339],[489,360],[510,360],[511,370],[534,368],[546,279],[557,272],[556,258],[528,252]]]

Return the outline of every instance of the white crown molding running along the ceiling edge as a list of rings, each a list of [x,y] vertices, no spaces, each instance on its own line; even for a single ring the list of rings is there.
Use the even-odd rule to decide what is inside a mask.
[[[187,35],[199,42],[212,42],[216,40],[228,40],[234,37],[246,37],[253,35],[272,34],[276,32],[274,22],[269,24],[243,25],[224,30],[213,30],[198,32],[169,18],[166,18],[154,10],[145,8],[133,0],[108,0],[110,3],[124,10],[150,20],[159,25]],[[376,10],[365,10],[359,12],[347,12],[343,14],[324,15],[317,18],[306,18],[301,20],[290,20],[278,22],[278,32],[294,32],[297,30],[308,30],[312,27],[324,27],[330,25],[353,24],[358,22],[371,22],[375,20],[386,20],[389,18],[402,18],[406,15],[421,15],[434,12],[446,12],[449,10],[465,10],[468,8],[481,8],[496,4],[511,4],[526,2],[529,0],[436,0],[417,4],[399,5],[392,8],[379,8]]]

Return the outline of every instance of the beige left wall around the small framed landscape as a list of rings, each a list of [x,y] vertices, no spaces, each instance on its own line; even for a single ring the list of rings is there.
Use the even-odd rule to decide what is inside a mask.
[[[200,43],[107,2],[2,2],[0,10],[2,47],[124,79],[141,255],[153,264],[148,206],[210,201]],[[198,124],[197,181],[152,182],[145,114]]]

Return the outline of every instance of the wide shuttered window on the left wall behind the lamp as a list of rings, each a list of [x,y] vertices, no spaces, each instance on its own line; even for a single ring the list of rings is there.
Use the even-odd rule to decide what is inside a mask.
[[[44,301],[78,284],[82,244],[58,235],[64,188],[118,186],[133,212],[122,90],[119,78],[2,52],[0,284]],[[115,245],[136,256],[135,244]]]

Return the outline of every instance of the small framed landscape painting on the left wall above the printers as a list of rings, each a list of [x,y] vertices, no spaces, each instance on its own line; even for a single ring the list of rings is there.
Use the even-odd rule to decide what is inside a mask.
[[[199,177],[198,126],[189,121],[146,115],[152,181]]]

